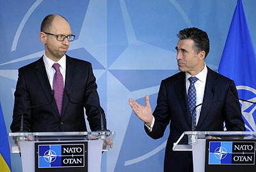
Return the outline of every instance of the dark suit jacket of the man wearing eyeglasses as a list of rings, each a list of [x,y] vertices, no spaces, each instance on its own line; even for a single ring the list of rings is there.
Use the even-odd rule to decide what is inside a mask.
[[[42,104],[47,105],[40,106]],[[63,106],[60,115],[54,96],[51,95],[51,85],[43,58],[40,58],[19,68],[11,130],[12,132],[20,130],[20,119],[23,113],[24,130],[29,132],[86,131],[83,104],[91,104],[101,109],[91,63],[67,56]],[[38,105],[40,107],[28,108]],[[106,127],[103,110],[102,114]],[[92,131],[100,129],[99,111],[94,107],[86,107],[86,115],[90,129]]]

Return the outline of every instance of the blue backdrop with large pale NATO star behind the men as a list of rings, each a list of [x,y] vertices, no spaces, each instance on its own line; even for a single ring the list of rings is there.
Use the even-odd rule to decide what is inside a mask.
[[[236,3],[236,0],[0,1],[0,101],[6,129],[10,131],[17,70],[44,54],[44,45],[38,38],[40,23],[46,15],[59,13],[70,22],[76,35],[67,54],[92,63],[108,128],[116,131],[113,150],[103,155],[102,171],[163,171],[169,129],[161,139],[148,137],[143,123],[132,113],[128,98],[144,104],[145,95],[150,95],[152,108],[156,106],[161,80],[178,72],[176,34],[184,27],[207,31],[211,50],[206,63],[217,70]],[[243,4],[255,47],[256,1],[244,0]],[[247,125],[253,129],[250,123]],[[20,171],[19,155],[12,155],[12,169]]]

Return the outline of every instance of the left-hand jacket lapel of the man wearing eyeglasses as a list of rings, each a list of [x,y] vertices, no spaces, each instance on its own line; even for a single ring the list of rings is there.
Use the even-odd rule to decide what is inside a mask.
[[[40,82],[40,86],[42,90],[44,91],[45,97],[47,97],[48,102],[52,101],[52,109],[54,109],[54,113],[58,118],[60,118],[60,115],[58,113],[58,107],[55,102],[55,98],[51,95],[51,84],[49,82],[49,79],[47,77],[47,73],[45,70],[44,60],[43,58],[38,59],[36,63],[36,77],[38,81]],[[52,99],[53,98],[53,99]]]

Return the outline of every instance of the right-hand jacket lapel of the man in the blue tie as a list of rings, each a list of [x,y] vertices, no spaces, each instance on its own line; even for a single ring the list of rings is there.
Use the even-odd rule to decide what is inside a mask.
[[[200,112],[198,124],[196,125],[196,129],[199,129],[200,126],[204,123],[207,112],[209,111],[210,104],[213,101],[212,87],[214,87],[215,77],[214,77],[214,72],[208,67],[207,69],[208,69],[208,72],[207,72],[207,78],[205,83],[204,100],[203,100],[203,102],[205,103],[202,105],[202,109]]]

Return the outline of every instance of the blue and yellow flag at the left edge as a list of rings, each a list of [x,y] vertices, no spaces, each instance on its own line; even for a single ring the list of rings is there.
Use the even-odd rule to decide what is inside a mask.
[[[0,171],[11,171],[11,157],[8,136],[4,123],[3,111],[0,103]]]

